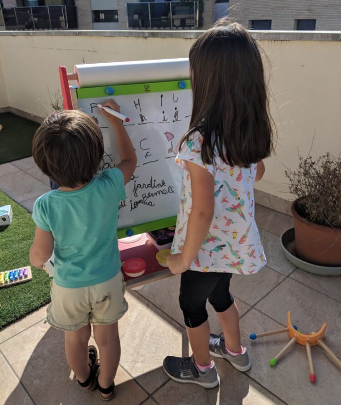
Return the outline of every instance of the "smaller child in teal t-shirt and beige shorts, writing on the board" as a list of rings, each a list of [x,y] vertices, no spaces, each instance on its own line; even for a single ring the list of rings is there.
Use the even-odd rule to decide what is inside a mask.
[[[114,100],[103,105],[119,111]],[[98,383],[102,399],[108,400],[115,394],[120,359],[117,321],[128,308],[117,243],[118,206],[136,154],[122,121],[103,109],[101,113],[114,128],[121,162],[99,175],[103,138],[89,115],[54,112],[35,134],[34,160],[59,188],[34,205],[37,228],[30,259],[42,268],[54,251],[47,321],[65,331],[66,358],[80,385],[92,390]],[[101,359],[98,381],[97,349],[88,346],[91,324]]]

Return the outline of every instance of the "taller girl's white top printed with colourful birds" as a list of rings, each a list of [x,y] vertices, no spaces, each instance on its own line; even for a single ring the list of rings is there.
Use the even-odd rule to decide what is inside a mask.
[[[182,251],[187,222],[192,209],[191,176],[186,161],[209,171],[215,180],[214,218],[209,233],[190,269],[203,272],[253,274],[266,264],[266,258],[255,222],[253,183],[257,165],[251,168],[231,167],[219,157],[215,164],[201,159],[203,137],[190,136],[178,153],[176,162],[185,169],[172,253]]]

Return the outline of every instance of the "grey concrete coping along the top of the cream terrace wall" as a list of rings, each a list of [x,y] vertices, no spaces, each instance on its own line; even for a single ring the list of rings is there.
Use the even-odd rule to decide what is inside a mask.
[[[134,37],[134,38],[198,38],[199,30],[42,30],[42,31],[0,31],[0,36],[81,36],[81,37]],[[341,41],[341,31],[252,31],[260,41]]]

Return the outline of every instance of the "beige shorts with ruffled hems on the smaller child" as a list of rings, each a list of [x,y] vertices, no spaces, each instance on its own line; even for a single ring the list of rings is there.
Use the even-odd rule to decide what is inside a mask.
[[[104,283],[89,287],[65,288],[53,284],[46,321],[57,329],[68,331],[80,329],[89,322],[110,325],[128,310],[124,293],[121,272]]]

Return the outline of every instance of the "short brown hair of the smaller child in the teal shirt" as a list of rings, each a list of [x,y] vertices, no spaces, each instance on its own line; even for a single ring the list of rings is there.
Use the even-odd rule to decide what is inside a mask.
[[[50,114],[33,138],[34,161],[58,185],[88,183],[104,153],[101,130],[88,114],[61,110]]]

